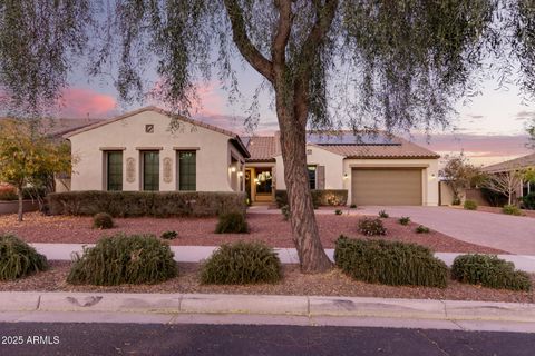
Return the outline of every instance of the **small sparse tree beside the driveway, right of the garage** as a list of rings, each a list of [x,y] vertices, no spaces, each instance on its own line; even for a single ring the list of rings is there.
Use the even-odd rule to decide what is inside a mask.
[[[454,201],[460,202],[460,191],[479,181],[481,172],[479,168],[468,164],[465,154],[460,152],[459,156],[447,156],[447,162],[440,171],[440,176],[451,188]]]

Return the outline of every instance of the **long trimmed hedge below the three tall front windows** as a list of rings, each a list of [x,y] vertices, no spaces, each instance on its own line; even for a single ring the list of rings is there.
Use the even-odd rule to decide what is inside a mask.
[[[244,192],[214,191],[67,191],[47,196],[51,215],[107,212],[113,217],[208,217],[247,208]]]

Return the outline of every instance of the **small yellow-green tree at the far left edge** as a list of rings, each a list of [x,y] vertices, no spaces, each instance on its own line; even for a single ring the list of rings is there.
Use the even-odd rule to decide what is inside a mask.
[[[40,135],[35,126],[17,120],[0,122],[0,181],[17,188],[18,219],[22,221],[22,189],[43,177],[70,171],[70,150]]]

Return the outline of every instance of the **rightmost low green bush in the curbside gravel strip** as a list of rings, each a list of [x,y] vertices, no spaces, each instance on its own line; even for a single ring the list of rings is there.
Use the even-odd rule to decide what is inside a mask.
[[[515,265],[497,256],[461,255],[451,266],[451,277],[461,283],[480,284],[489,288],[529,290],[529,275],[515,270]]]

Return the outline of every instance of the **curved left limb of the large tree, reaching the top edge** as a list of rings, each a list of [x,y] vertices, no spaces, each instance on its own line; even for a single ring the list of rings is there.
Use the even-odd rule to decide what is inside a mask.
[[[231,19],[232,37],[240,53],[245,60],[269,81],[273,82],[273,63],[269,61],[251,42],[245,29],[242,9],[236,0],[224,0],[226,13]]]

